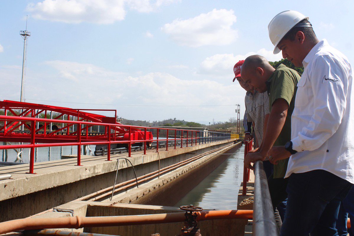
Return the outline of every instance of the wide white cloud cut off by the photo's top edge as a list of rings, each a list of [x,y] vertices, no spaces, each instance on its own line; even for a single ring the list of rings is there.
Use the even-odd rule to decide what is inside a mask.
[[[139,12],[151,12],[178,0],[44,0],[27,5],[32,17],[65,23],[90,22],[112,24],[124,20],[126,6]]]

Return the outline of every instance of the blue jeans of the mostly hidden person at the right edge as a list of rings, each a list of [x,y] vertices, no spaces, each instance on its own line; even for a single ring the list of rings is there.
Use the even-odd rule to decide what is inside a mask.
[[[348,216],[351,224],[349,230],[347,229]],[[339,236],[346,236],[348,233],[354,235],[354,187],[350,189],[346,198],[341,202],[336,228]]]

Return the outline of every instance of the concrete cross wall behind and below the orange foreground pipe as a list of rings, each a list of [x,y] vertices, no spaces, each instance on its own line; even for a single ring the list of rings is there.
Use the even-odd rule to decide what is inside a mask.
[[[75,201],[58,206],[58,208],[72,211],[74,216],[86,217],[103,217],[103,216],[128,216],[138,214],[159,214],[181,212],[177,207],[168,206],[151,206],[151,205],[135,205],[124,203],[104,203],[104,202],[85,202]],[[86,209],[86,211],[82,211]],[[51,212],[45,213],[40,218],[46,217],[67,217],[63,213]],[[244,235],[247,219],[225,219],[225,220],[205,220],[198,222],[202,235],[219,235],[219,236],[241,236]],[[58,229],[75,232],[90,232],[96,234],[110,235],[151,235],[160,233],[161,235],[179,235],[183,222],[151,224],[151,225],[130,225],[130,226],[111,226],[111,227],[92,227],[84,229]]]

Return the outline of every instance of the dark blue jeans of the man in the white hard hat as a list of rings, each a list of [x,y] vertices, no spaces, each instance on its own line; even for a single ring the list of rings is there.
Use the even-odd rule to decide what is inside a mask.
[[[338,235],[339,205],[351,187],[348,181],[324,170],[291,174],[280,235]]]

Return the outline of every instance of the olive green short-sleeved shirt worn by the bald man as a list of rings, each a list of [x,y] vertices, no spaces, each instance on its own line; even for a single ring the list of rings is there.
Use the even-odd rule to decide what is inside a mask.
[[[280,64],[266,82],[270,112],[272,112],[272,105],[276,99],[282,98],[289,104],[284,126],[281,129],[278,138],[276,138],[274,146],[284,146],[287,141],[291,140],[291,114],[294,110],[297,90],[296,85],[300,77],[301,74],[296,70]],[[274,178],[284,178],[288,161],[289,158],[280,160],[277,165],[274,165]]]

